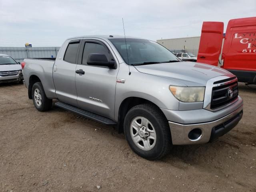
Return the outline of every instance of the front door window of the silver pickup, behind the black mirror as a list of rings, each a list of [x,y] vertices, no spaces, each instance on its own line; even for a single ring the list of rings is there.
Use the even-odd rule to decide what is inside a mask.
[[[93,43],[93,42],[86,42],[84,45],[84,52],[83,52],[83,58],[82,58],[82,64],[87,65],[87,58],[89,54],[92,53],[100,53],[105,54],[108,60],[111,60],[112,57],[111,54],[108,52],[108,50],[101,44]]]

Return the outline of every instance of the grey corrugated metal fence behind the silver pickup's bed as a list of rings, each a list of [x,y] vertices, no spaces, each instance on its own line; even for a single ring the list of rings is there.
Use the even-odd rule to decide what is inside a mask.
[[[18,62],[24,58],[56,57],[60,47],[0,47],[0,54],[10,55]]]

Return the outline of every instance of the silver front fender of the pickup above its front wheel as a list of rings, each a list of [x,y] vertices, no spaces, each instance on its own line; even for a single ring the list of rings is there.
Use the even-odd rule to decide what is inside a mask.
[[[149,100],[159,108],[178,110],[179,101],[169,90],[170,82],[165,78],[144,74],[130,68],[131,75],[118,73],[124,83],[116,83],[115,120],[118,121],[119,108],[129,97]],[[128,74],[128,73],[127,73]]]

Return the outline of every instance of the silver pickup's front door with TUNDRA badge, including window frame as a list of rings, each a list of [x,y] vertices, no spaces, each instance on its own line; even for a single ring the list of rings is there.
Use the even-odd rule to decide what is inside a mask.
[[[105,54],[108,60],[115,60],[111,48],[98,40],[83,40],[76,70],[76,91],[78,107],[114,119],[116,92],[116,69],[87,64],[89,54]],[[117,61],[117,60],[116,60]],[[117,63],[117,62],[116,62]]]

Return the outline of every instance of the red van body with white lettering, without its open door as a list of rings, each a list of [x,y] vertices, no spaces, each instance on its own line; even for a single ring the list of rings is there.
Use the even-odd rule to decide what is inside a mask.
[[[222,58],[224,68],[241,82],[256,82],[256,17],[228,22]]]

